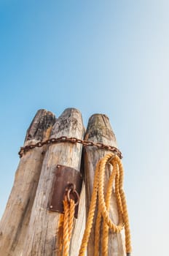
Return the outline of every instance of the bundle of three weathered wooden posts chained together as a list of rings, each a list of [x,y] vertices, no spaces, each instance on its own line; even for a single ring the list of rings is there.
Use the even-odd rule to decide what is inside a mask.
[[[61,116],[39,110],[25,136],[24,146],[49,138],[66,136],[95,143],[117,146],[109,118],[102,114],[90,117],[85,131],[79,110],[68,108]],[[82,147],[80,143],[60,142],[27,151],[20,158],[15,181],[0,222],[0,255],[3,256],[61,256],[62,223],[56,211],[49,211],[55,168],[57,165],[72,167],[84,178],[79,198],[79,212],[74,219],[69,255],[77,256],[84,233],[85,219],[93,192],[95,166],[109,151]],[[110,170],[106,170],[106,179]],[[111,196],[110,216],[118,223],[117,203]],[[94,255],[94,229],[91,232],[87,255]],[[109,255],[124,256],[124,234],[109,233]]]

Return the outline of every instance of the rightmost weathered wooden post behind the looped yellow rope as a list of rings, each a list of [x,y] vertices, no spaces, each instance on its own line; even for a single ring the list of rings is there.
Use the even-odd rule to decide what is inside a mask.
[[[85,140],[92,140],[95,143],[104,143],[110,146],[116,146],[117,142],[114,132],[111,129],[109,123],[109,118],[105,115],[95,114],[90,117],[87,132],[85,135]],[[95,147],[86,147],[84,149],[84,176],[85,176],[85,187],[86,187],[86,209],[87,212],[90,206],[90,199],[93,192],[93,178],[95,175],[95,166],[101,157],[110,153],[109,151],[104,151],[103,149],[98,149]],[[106,181],[109,178],[109,169],[106,170]],[[117,203],[115,200],[114,193],[111,197],[111,207],[110,216],[115,224],[118,224],[118,211]],[[95,220],[94,220],[95,225]],[[90,234],[90,240],[87,247],[87,255],[94,255],[94,241],[95,233],[94,228]],[[122,233],[114,234],[109,232],[109,255],[114,256],[124,256],[125,246],[124,246],[124,235]]]

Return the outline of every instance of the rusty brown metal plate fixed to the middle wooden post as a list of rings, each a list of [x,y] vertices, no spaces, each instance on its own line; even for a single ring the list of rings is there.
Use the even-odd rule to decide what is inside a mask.
[[[65,166],[57,165],[55,170],[55,178],[52,185],[52,193],[50,197],[49,210],[63,213],[63,197],[65,195],[68,184],[75,184],[76,192],[81,192],[82,175],[79,170]],[[75,208],[74,217],[77,218],[78,205]]]

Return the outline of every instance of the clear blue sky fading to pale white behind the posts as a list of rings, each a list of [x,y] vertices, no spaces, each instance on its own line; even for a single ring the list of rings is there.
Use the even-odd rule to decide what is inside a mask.
[[[135,256],[168,255],[169,1],[0,1],[1,214],[36,110],[109,116]]]

